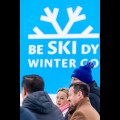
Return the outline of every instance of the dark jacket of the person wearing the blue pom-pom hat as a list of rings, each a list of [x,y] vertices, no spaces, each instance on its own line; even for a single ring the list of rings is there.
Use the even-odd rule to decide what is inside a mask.
[[[89,84],[90,86],[90,103],[100,114],[100,88],[97,86],[95,81]]]

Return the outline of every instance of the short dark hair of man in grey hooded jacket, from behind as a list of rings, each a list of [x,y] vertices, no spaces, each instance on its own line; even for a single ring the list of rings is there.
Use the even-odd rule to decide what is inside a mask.
[[[22,87],[26,89],[28,93],[44,90],[44,80],[39,75],[25,75],[23,76]]]

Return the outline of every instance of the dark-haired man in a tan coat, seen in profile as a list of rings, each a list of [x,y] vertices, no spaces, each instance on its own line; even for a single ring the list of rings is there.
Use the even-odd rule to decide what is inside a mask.
[[[100,120],[99,113],[90,104],[89,91],[89,86],[82,82],[70,85],[68,120]]]

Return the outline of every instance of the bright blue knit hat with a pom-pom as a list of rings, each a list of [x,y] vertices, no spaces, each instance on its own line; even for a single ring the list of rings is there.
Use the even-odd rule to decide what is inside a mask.
[[[80,66],[78,69],[75,69],[71,75],[71,78],[75,77],[80,81],[89,84],[92,82],[91,68],[93,67],[94,64],[92,62],[87,62],[85,66]]]

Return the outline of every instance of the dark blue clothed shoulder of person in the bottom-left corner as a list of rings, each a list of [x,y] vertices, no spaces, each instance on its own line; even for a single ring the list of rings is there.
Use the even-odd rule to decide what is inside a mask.
[[[37,120],[32,112],[26,108],[20,107],[20,120]]]

